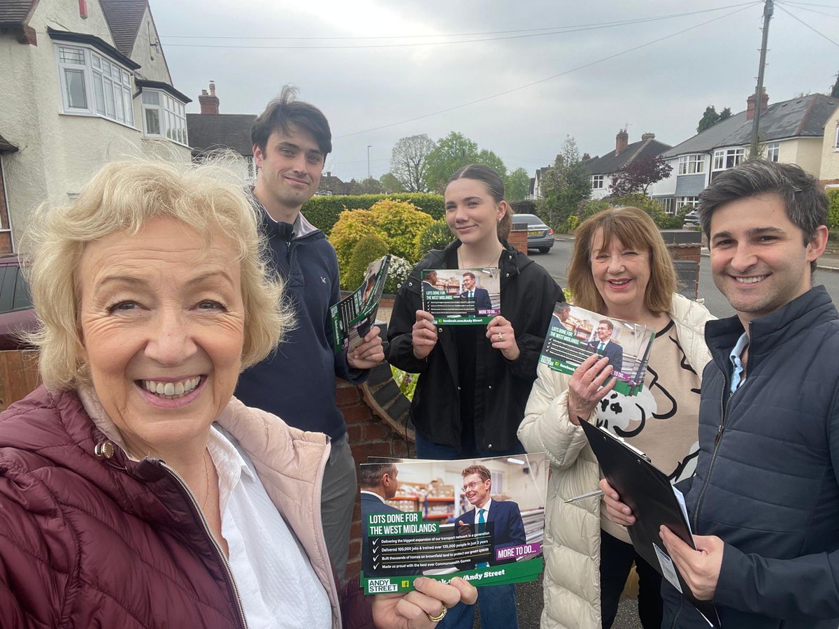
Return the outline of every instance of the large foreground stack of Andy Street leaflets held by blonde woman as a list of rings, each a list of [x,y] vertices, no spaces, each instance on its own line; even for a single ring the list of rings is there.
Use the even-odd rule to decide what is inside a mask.
[[[544,453],[374,460],[361,465],[365,594],[413,590],[419,576],[444,583],[459,576],[477,586],[539,577],[548,481]],[[378,482],[384,473],[388,483]],[[370,479],[373,485],[365,484]]]

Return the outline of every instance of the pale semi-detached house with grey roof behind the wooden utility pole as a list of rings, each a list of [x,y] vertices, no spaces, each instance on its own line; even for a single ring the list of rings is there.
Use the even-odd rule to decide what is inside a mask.
[[[839,99],[810,94],[769,105],[764,91],[759,107],[758,138],[763,157],[798,164],[819,179],[839,179],[836,123],[833,127],[829,123],[836,121]],[[717,122],[664,153],[673,171],[650,188],[650,196],[661,201],[670,213],[684,206],[696,207],[699,193],[717,174],[748,159],[755,108],[755,96],[749,96],[745,111]],[[826,155],[831,159],[826,159]],[[823,174],[823,162],[831,166],[831,175]]]

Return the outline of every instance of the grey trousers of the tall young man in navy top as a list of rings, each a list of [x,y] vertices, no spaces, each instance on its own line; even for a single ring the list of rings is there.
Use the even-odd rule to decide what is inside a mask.
[[[347,580],[345,573],[350,554],[350,527],[356,494],[356,462],[352,459],[352,450],[345,433],[332,441],[320,493],[320,518],[323,521],[326,548],[341,585]]]

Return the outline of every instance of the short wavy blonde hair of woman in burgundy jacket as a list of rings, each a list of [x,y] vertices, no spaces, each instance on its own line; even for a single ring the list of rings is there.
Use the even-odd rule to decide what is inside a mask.
[[[115,162],[102,167],[72,204],[44,204],[35,211],[21,259],[41,322],[28,340],[39,348],[39,372],[48,389],[90,383],[81,358],[78,278],[87,243],[120,231],[136,234],[159,217],[180,221],[207,242],[220,233],[229,238],[241,264],[242,369],[274,350],[294,316],[281,280],[267,273],[267,247],[235,174],[240,168],[230,156],[198,165]]]

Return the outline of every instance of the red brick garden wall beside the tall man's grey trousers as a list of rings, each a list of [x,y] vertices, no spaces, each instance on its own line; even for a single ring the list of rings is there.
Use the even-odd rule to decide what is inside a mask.
[[[376,404],[371,398],[367,385],[353,387],[347,382],[339,381],[336,394],[338,408],[341,408],[341,413],[344,413],[344,418],[347,420],[347,438],[356,465],[365,462],[368,456],[408,456],[408,444],[404,434],[400,434],[395,427],[373,412],[371,403],[374,406]],[[412,437],[413,435],[409,434],[409,438]],[[355,576],[362,567],[360,509],[358,497],[356,497],[350,529],[350,559],[347,563],[347,577]]]

